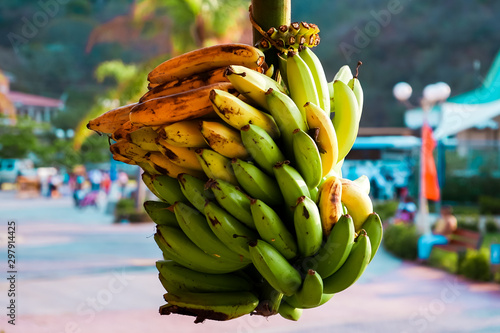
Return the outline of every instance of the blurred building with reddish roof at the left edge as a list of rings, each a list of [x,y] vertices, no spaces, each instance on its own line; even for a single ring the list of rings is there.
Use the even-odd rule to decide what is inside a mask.
[[[0,71],[0,114],[12,121],[28,116],[37,122],[50,122],[64,108],[60,99],[48,98],[10,90],[10,80]]]

